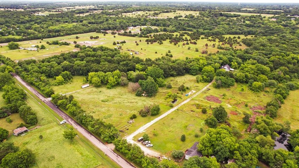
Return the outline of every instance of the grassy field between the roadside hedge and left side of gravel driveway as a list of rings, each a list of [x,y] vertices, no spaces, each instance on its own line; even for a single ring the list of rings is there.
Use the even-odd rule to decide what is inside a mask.
[[[56,93],[65,93],[78,90],[77,86],[83,84],[83,77],[75,77],[71,85],[74,87],[68,87],[68,84],[54,87]],[[77,79],[77,80],[76,80]],[[74,97],[80,102],[80,105],[86,112],[92,114],[94,117],[103,118],[104,121],[114,124],[117,128],[123,126],[132,114],[138,114],[138,111],[145,105],[159,104],[161,107],[161,113],[170,109],[168,106],[170,100],[164,100],[167,93],[177,93],[178,87],[181,84],[189,86],[190,90],[199,91],[206,83],[196,83],[195,76],[184,75],[179,77],[170,77],[165,79],[173,86],[171,89],[165,87],[159,88],[159,91],[155,97],[137,97],[135,93],[129,91],[127,86],[118,86],[116,88],[107,89],[105,86],[96,88],[86,88],[82,91],[73,93]],[[67,89],[64,88],[67,86]],[[80,89],[80,88],[79,88]],[[181,93],[179,93],[181,94]],[[185,93],[184,93],[185,94]],[[187,97],[182,95],[179,102],[185,100]],[[149,122],[157,116],[137,117],[135,123],[132,125],[132,129],[128,132],[139,128],[144,123]]]

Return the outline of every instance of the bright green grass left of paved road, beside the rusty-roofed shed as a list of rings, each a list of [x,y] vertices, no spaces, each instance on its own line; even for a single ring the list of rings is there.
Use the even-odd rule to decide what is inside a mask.
[[[75,137],[73,142],[64,139],[62,134],[63,131],[67,130],[67,127],[60,125],[55,117],[58,117],[59,120],[62,118],[35,96],[31,97],[28,94],[26,101],[37,113],[39,121],[37,129],[31,130],[24,136],[10,136],[8,141],[14,142],[21,149],[25,147],[31,149],[36,155],[37,165],[34,167],[119,167],[82,135],[79,134],[78,137]],[[13,119],[18,115],[13,114],[11,118]],[[1,119],[1,127],[2,123],[4,122]],[[14,120],[11,124],[16,123],[18,121]],[[40,134],[43,135],[42,140],[39,139]]]

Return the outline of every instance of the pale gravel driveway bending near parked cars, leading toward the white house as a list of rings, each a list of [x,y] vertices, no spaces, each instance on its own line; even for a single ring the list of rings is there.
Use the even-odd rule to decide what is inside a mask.
[[[126,136],[126,140],[129,143],[135,143],[138,146],[140,146],[140,148],[144,151],[144,154],[146,155],[151,155],[151,156],[159,156],[160,154],[145,147],[144,145],[142,145],[141,143],[137,143],[135,140],[133,140],[133,138],[141,133],[144,132],[145,129],[147,129],[149,126],[153,125],[154,123],[156,123],[157,121],[161,120],[162,118],[166,117],[168,114],[170,114],[171,112],[175,111],[176,109],[178,109],[180,106],[184,105],[185,103],[189,102],[193,97],[197,96],[198,94],[200,94],[202,91],[204,91],[206,88],[208,88],[215,80],[213,80],[212,82],[210,82],[208,85],[206,85],[204,88],[202,88],[202,90],[198,91],[196,94],[194,94],[193,96],[189,97],[188,99],[186,99],[185,101],[183,101],[182,103],[180,103],[179,105],[173,107],[172,109],[168,110],[167,112],[165,112],[164,114],[160,115],[159,117],[155,118],[154,120],[150,121],[149,123],[145,124],[144,126],[141,126],[139,129],[137,129],[135,132],[133,132],[132,134]],[[138,137],[139,138],[139,137]]]

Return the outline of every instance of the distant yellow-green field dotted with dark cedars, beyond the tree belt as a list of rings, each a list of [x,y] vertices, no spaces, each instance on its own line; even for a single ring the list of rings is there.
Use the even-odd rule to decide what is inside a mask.
[[[135,30],[135,29],[134,29]],[[208,53],[212,52],[215,53],[219,49],[217,49],[218,42],[209,42],[207,39],[199,39],[197,40],[197,44],[193,45],[185,45],[183,46],[183,42],[179,42],[177,45],[174,45],[173,43],[170,44],[168,40],[163,41],[163,44],[159,45],[157,42],[154,44],[147,44],[145,40],[147,38],[140,38],[140,37],[129,37],[129,36],[118,36],[115,35],[115,38],[113,37],[114,35],[107,34],[106,36],[103,36],[103,34],[98,34],[99,39],[89,39],[89,36],[82,37],[79,39],[68,39],[64,40],[66,42],[73,42],[76,40],[80,45],[103,45],[106,47],[114,48],[116,45],[113,45],[113,42],[117,41],[123,41],[125,40],[126,43],[122,44],[122,50],[121,51],[126,51],[128,49],[134,50],[134,51],[139,51],[139,54],[137,56],[141,58],[158,58],[161,56],[165,56],[168,50],[171,51],[170,54],[173,55],[174,59],[180,58],[180,59],[185,59],[186,57],[197,57],[201,56],[204,54],[201,54],[201,51],[207,50]],[[227,35],[227,36],[235,36],[235,35]],[[244,38],[244,36],[240,36],[241,38]],[[189,38],[187,36],[187,38]],[[247,38],[251,38],[250,36],[247,36]],[[141,40],[141,42],[140,42]],[[138,46],[136,46],[135,41],[138,42]],[[204,46],[205,44],[208,44],[208,48]],[[216,47],[213,48],[212,45],[216,44]],[[190,50],[188,50],[188,47],[190,46]],[[229,46],[229,45],[225,45]],[[239,46],[239,45],[234,45],[236,48],[246,48],[245,45]],[[199,52],[196,52],[195,49],[198,48]],[[157,54],[155,52],[157,51]]]

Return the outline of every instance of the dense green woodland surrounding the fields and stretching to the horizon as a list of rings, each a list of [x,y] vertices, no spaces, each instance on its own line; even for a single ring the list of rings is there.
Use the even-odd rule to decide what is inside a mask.
[[[0,11],[0,42],[24,41],[30,39],[43,39],[71,34],[100,32],[100,30],[127,30],[128,26],[157,26],[158,28],[143,28],[140,33],[124,31],[122,36],[139,36],[148,38],[148,43],[186,42],[185,45],[196,43],[197,39],[206,39],[217,43],[225,43],[231,47],[217,53],[209,53],[196,58],[172,59],[165,55],[156,59],[141,59],[121,52],[116,48],[103,46],[89,47],[76,45],[80,51],[62,53],[42,60],[26,59],[19,62],[1,56],[0,61],[5,65],[0,68],[0,89],[4,92],[3,98],[6,105],[0,110],[0,117],[7,117],[14,112],[19,112],[25,124],[37,123],[35,112],[26,105],[25,92],[16,87],[10,72],[16,72],[24,80],[34,85],[45,96],[52,97],[53,103],[74,117],[78,123],[89,131],[99,136],[103,141],[115,145],[115,149],[126,156],[130,161],[144,168],[150,167],[178,167],[167,160],[158,162],[155,158],[144,156],[144,152],[136,145],[120,139],[118,130],[110,123],[100,118],[94,118],[80,107],[80,103],[72,96],[62,96],[54,93],[52,85],[67,84],[73,76],[85,76],[85,82],[96,87],[106,86],[114,88],[118,85],[126,87],[129,82],[135,83],[136,96],[147,94],[155,96],[159,87],[168,87],[164,78],[176,77],[185,74],[194,75],[198,82],[211,82],[215,79],[213,87],[229,88],[235,83],[245,83],[252,92],[274,92],[274,98],[267,103],[265,116],[257,117],[246,138],[238,129],[226,124],[227,112],[222,106],[213,108],[213,115],[205,120],[210,127],[204,136],[199,138],[198,150],[205,156],[214,155],[215,158],[193,157],[185,161],[184,168],[193,167],[220,167],[221,162],[234,158],[236,163],[226,165],[228,168],[256,167],[261,161],[275,168],[298,168],[299,165],[299,130],[291,131],[291,123],[275,123],[277,111],[285,103],[291,90],[299,89],[299,19],[293,21],[287,15],[298,15],[295,5],[262,5],[262,4],[184,4],[179,3],[148,5],[145,3],[120,3],[113,2],[116,6],[99,6],[91,3],[93,8],[77,9],[36,16],[33,13],[42,11],[34,10],[38,7],[44,10],[66,7],[70,4],[33,4],[32,6],[18,6],[16,4],[3,4],[2,8],[26,9],[24,11]],[[123,6],[117,6],[122,4]],[[80,3],[71,6],[80,5]],[[87,5],[87,4],[85,4]],[[132,6],[138,5],[139,7]],[[178,7],[179,6],[179,7]],[[244,12],[242,8],[255,8],[246,10],[248,13],[275,14],[270,19],[256,16],[241,16],[222,12]],[[289,10],[289,8],[294,8]],[[32,10],[30,10],[32,9]],[[269,11],[284,10],[282,11]],[[92,10],[103,10],[86,16],[76,16]],[[134,11],[158,11],[159,13],[173,12],[174,10],[196,10],[198,16],[186,19],[167,18],[153,19],[146,16],[124,17],[121,13]],[[111,16],[113,15],[113,16]],[[149,33],[161,34],[148,35]],[[173,33],[178,32],[175,36]],[[105,32],[107,33],[107,32]],[[222,35],[235,35],[234,38],[224,38]],[[18,35],[21,37],[7,37]],[[190,36],[190,39],[185,35]],[[232,44],[240,44],[238,35],[252,36],[242,39],[248,48],[234,49]],[[216,47],[216,46],[214,46]],[[149,56],[150,57],[150,56]],[[237,71],[225,71],[221,65],[228,64]],[[54,79],[54,80],[52,80]],[[180,89],[180,88],[179,88]],[[250,114],[244,113],[243,122],[250,123]],[[219,126],[219,123],[221,126]],[[217,127],[218,126],[218,127]],[[291,134],[287,150],[274,150],[274,140],[279,132]],[[5,131],[3,131],[5,133]],[[216,137],[216,138],[211,138]],[[5,139],[5,137],[4,137]],[[2,140],[2,139],[1,139]],[[1,145],[1,144],[0,144]],[[5,146],[4,146],[5,147]],[[4,148],[3,147],[3,148]],[[18,149],[10,144],[11,152],[16,155]],[[27,151],[28,152],[28,151]],[[9,152],[5,153],[7,155]],[[30,151],[28,152],[30,153]],[[1,158],[6,157],[1,155]],[[8,155],[9,156],[9,155]],[[9,157],[2,160],[9,162]],[[0,162],[1,163],[1,162]],[[32,164],[30,162],[28,165]],[[6,167],[6,165],[2,166]],[[8,166],[7,166],[8,167]]]

